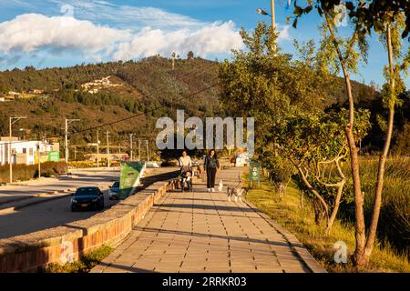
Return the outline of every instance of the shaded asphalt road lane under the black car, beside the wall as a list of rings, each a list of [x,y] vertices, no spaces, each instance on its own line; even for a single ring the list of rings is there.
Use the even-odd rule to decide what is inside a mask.
[[[172,176],[171,173],[173,171],[175,171],[175,168],[172,167],[148,169],[146,172],[146,177],[141,182],[144,186],[148,186],[155,181],[169,178]],[[84,179],[83,182],[87,183],[87,185],[92,185],[93,183],[96,185],[105,181],[109,182],[110,180],[115,180],[118,178],[118,175],[118,171],[111,171],[110,175],[107,176],[97,176],[96,174],[96,176],[83,176],[81,179]],[[70,199],[71,196],[62,197],[34,206],[27,206],[10,214],[0,214],[0,239],[12,236],[21,236],[50,227],[64,226],[65,224],[69,224],[77,220],[87,219],[97,213],[97,211],[92,210],[71,212]],[[102,211],[107,210],[110,206],[118,203],[118,201],[109,200],[108,190],[106,190],[104,191],[104,203],[105,208]]]

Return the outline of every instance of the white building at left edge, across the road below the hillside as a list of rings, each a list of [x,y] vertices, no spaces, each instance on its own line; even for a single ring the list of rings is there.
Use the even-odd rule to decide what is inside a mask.
[[[22,141],[12,137],[11,143],[9,137],[0,138],[0,165],[8,164],[9,153],[8,146],[11,146],[11,162],[13,164],[35,165],[38,158],[37,153],[46,153],[58,151],[58,144],[48,144],[42,141]]]

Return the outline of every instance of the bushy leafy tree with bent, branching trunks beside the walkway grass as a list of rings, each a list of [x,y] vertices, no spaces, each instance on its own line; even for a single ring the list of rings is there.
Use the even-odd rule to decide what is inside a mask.
[[[354,134],[360,140],[370,127],[370,113],[359,111],[355,115],[359,122]],[[300,185],[313,198],[315,221],[321,225],[325,219],[327,234],[332,229],[347,181],[341,167],[348,153],[341,126],[347,116],[344,109],[301,113],[284,120],[277,133],[280,155],[297,169]]]

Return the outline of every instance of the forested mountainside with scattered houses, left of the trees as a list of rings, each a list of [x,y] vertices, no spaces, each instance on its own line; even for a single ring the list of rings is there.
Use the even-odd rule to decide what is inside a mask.
[[[152,128],[157,118],[173,116],[176,109],[185,109],[187,115],[213,115],[218,111],[217,88],[192,95],[218,82],[217,63],[194,58],[176,60],[172,70],[171,60],[152,56],[139,62],[117,62],[97,65],[36,70],[14,69],[0,73],[0,88],[3,96],[15,93],[41,92],[37,95],[22,94],[14,101],[0,102],[0,135],[8,135],[8,116],[26,115],[18,127],[24,128],[26,138],[64,134],[64,118],[79,118],[71,131],[138,115],[135,118],[100,130],[109,130],[112,141],[118,134],[137,133],[153,137]],[[85,87],[109,76],[110,86],[97,92],[93,86]],[[95,86],[94,86],[95,87]],[[44,92],[43,92],[44,91]],[[1,96],[1,95],[0,95]],[[183,99],[183,100],[181,100]],[[178,102],[180,100],[180,102]],[[16,127],[15,127],[16,128]],[[16,133],[15,133],[16,135]],[[72,143],[84,144],[95,141],[96,131],[86,131],[70,136]]]

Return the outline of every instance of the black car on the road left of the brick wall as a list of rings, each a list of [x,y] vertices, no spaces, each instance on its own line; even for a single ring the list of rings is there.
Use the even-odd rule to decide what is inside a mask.
[[[71,211],[104,208],[104,195],[98,187],[79,187],[71,199]]]

